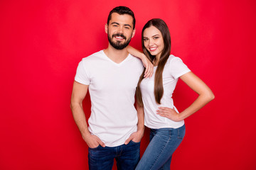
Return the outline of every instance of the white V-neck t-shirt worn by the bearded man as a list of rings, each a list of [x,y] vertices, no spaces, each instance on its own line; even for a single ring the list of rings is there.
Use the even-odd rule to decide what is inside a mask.
[[[92,103],[89,130],[107,147],[123,145],[137,131],[134,94],[142,71],[142,61],[137,57],[128,55],[117,64],[103,50],[78,64],[75,81],[89,85]]]

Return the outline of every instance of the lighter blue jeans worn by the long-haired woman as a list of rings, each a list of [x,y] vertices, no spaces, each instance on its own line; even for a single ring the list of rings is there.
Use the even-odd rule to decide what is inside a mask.
[[[181,144],[185,131],[185,125],[177,129],[151,129],[149,146],[146,147],[136,170],[170,169],[171,156]]]

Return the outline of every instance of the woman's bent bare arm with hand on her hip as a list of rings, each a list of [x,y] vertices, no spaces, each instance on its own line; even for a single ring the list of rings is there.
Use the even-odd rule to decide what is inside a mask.
[[[211,91],[210,88],[196,76],[196,74],[188,72],[180,78],[199,95],[198,98],[196,98],[191,106],[188,106],[188,108],[181,113],[176,113],[173,108],[166,107],[160,107],[159,110],[156,111],[157,114],[177,122],[188,118],[188,116],[192,115],[193,113],[196,113],[196,111],[203,108],[203,106],[212,101],[215,97],[213,91]]]

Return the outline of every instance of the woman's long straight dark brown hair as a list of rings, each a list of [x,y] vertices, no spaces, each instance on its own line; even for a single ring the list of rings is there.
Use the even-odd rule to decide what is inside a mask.
[[[161,104],[161,98],[164,94],[162,74],[163,74],[164,66],[165,66],[165,64],[166,64],[166,62],[169,58],[170,53],[171,53],[171,35],[170,35],[169,28],[166,25],[166,23],[163,20],[159,19],[159,18],[151,19],[142,28],[142,49],[143,49],[143,52],[146,55],[146,57],[148,57],[151,62],[153,62],[153,60],[156,56],[151,55],[150,52],[148,50],[146,50],[146,47],[144,46],[144,38],[143,38],[144,30],[146,28],[151,27],[151,26],[154,26],[155,28],[160,30],[162,38],[164,40],[164,49],[161,52],[161,56],[160,56],[160,59],[159,59],[159,64],[156,68],[156,73],[155,73],[155,78],[154,78],[154,96],[155,96],[155,100],[156,100],[156,103]],[[144,69],[144,72],[145,72],[145,69]],[[137,102],[139,103],[140,106],[143,106],[142,92],[140,90],[140,84],[142,82],[142,79],[144,79],[144,72],[142,73],[141,77],[139,78],[137,91],[136,91]]]

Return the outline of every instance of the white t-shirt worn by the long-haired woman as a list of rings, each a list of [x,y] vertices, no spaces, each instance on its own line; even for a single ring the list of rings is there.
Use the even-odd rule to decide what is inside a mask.
[[[154,67],[154,74],[151,78],[143,79],[140,85],[142,91],[142,101],[144,103],[144,117],[145,125],[148,128],[159,129],[159,128],[180,128],[184,125],[184,120],[180,122],[174,122],[169,118],[162,117],[156,114],[156,110],[159,107],[169,107],[177,109],[174,106],[172,94],[178,82],[178,77],[183,74],[190,72],[190,69],[182,62],[182,60],[174,55],[170,55],[169,59],[164,66],[163,71],[163,86],[164,94],[161,98],[161,104],[156,103],[154,97],[154,77],[156,68]]]

